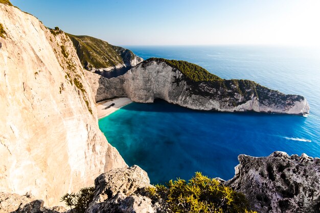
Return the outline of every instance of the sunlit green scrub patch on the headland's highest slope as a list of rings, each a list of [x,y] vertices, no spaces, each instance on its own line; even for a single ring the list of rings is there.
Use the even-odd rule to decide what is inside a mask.
[[[164,58],[150,58],[147,61],[165,62],[171,67],[178,69],[187,78],[193,81],[221,81],[220,77],[208,72],[196,64],[187,61],[168,60]]]

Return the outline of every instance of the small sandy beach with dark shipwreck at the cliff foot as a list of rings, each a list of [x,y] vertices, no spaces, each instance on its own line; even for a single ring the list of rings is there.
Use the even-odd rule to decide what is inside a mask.
[[[121,107],[132,103],[129,98],[115,98],[97,103],[98,119],[117,111]]]

